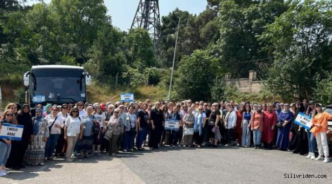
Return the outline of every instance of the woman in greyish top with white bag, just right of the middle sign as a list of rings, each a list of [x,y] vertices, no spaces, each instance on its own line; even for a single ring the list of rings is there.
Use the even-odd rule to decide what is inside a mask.
[[[194,135],[194,123],[195,117],[193,114],[193,108],[188,108],[188,113],[184,114],[183,117],[183,147],[193,146],[193,135]]]

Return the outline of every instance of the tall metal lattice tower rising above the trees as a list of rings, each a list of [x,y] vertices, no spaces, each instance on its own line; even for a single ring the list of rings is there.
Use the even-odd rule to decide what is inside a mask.
[[[140,0],[131,29],[146,29],[153,40],[154,53],[157,53],[157,43],[159,39],[159,0]]]

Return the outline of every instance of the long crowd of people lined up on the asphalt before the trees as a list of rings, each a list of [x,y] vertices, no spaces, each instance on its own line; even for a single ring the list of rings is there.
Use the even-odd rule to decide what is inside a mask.
[[[312,117],[311,130],[294,123],[299,112]],[[2,124],[23,125],[20,141],[0,139],[0,176],[46,160],[90,158],[108,153],[144,151],[160,147],[242,146],[292,151],[329,162],[327,120],[322,105],[297,103],[252,104],[191,100],[37,105],[32,117],[28,104],[10,103]],[[165,129],[165,120],[179,128]],[[262,147],[264,146],[264,147]],[[315,152],[318,148],[318,156]]]

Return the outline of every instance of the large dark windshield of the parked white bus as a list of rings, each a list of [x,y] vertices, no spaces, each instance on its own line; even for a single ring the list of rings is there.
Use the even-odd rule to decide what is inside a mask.
[[[31,102],[61,105],[85,101],[85,78],[82,73],[82,70],[54,68],[32,71]]]

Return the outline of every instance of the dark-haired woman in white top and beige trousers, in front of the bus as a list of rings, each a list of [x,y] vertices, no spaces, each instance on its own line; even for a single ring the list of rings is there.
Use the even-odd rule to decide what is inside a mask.
[[[74,146],[77,139],[82,139],[83,137],[83,124],[81,118],[79,117],[79,109],[74,107],[69,113],[69,117],[66,119],[64,124],[64,140],[67,140],[67,152],[66,152],[66,162],[73,162],[71,159]]]

